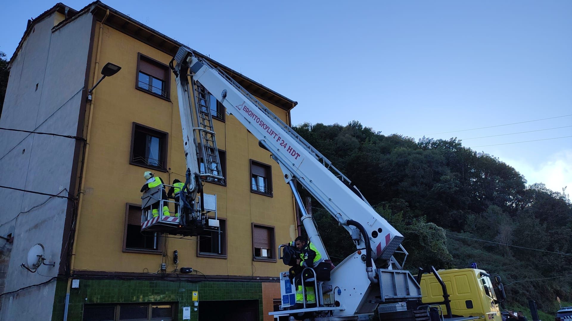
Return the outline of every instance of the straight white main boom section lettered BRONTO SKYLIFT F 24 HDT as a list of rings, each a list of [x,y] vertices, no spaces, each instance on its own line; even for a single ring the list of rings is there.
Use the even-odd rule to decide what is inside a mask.
[[[182,51],[182,52],[181,52]],[[181,56],[181,57],[180,57]],[[248,94],[223,71],[192,55],[181,47],[177,62],[186,59],[194,81],[214,95],[270,151],[280,164],[288,183],[296,179],[326,208],[349,232],[348,220],[362,224],[370,238],[372,259],[388,260],[403,240],[403,236],[382,218],[367,202],[320,163],[298,139],[287,132],[294,131],[284,123],[278,124],[276,115]],[[261,108],[262,107],[262,108]],[[288,128],[284,128],[288,127]],[[321,242],[320,242],[321,243]],[[365,246],[360,236],[359,248]]]

